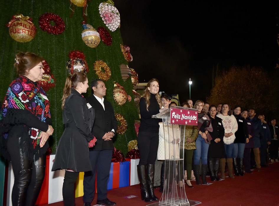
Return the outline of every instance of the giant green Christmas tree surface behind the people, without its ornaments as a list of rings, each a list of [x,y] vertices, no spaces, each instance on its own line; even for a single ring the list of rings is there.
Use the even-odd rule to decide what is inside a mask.
[[[83,7],[71,5],[70,0],[13,0],[13,1],[0,1],[0,100],[3,103],[4,95],[9,87],[9,84],[13,79],[17,78],[17,72],[14,64],[15,54],[18,51],[34,52],[39,56],[43,57],[50,66],[50,73],[53,74],[56,79],[55,87],[50,88],[47,91],[48,99],[50,100],[50,112],[52,115],[52,126],[55,129],[51,139],[51,149],[55,153],[58,140],[63,133],[62,123],[62,109],[61,101],[63,94],[63,87],[65,79],[69,75],[66,66],[70,51],[82,51],[86,56],[86,62],[88,64],[89,73],[88,80],[91,82],[93,79],[99,78],[94,70],[94,63],[98,60],[105,62],[111,70],[111,78],[104,81],[107,87],[106,99],[111,102],[114,107],[115,113],[118,113],[124,117],[127,121],[127,131],[124,134],[117,134],[114,138],[114,146],[116,149],[127,154],[127,144],[129,141],[136,139],[136,132],[134,129],[135,119],[139,119],[137,108],[134,103],[134,95],[132,92],[133,85],[131,78],[126,81],[122,79],[120,65],[128,65],[128,61],[124,58],[120,44],[125,45],[122,41],[120,28],[115,31],[110,31],[109,28],[104,24],[104,21],[99,14],[99,4],[102,1],[87,1],[88,7],[86,9],[86,23],[98,29],[104,27],[112,38],[111,46],[105,44],[102,40],[96,48],[86,46],[81,38],[83,31],[82,21],[83,18]],[[117,9],[117,5],[114,5]],[[71,9],[74,8],[72,14]],[[39,19],[45,13],[56,14],[65,22],[65,31],[61,34],[50,34],[47,31],[43,31],[39,26]],[[121,19],[121,11],[120,19]],[[9,35],[9,28],[5,26],[13,15],[22,14],[32,18],[34,26],[37,29],[35,38],[29,42],[21,43],[11,38]],[[54,26],[53,21],[50,25]],[[127,45],[129,46],[129,45]],[[132,53],[132,51],[131,51]],[[136,57],[134,57],[136,58]],[[137,70],[136,68],[134,68]],[[102,68],[102,72],[104,68]],[[113,89],[114,81],[124,87],[128,95],[132,97],[132,101],[128,100],[122,106],[118,105],[114,101]],[[89,88],[87,93],[88,96],[91,94]],[[97,121],[97,120],[95,120]],[[120,122],[119,122],[120,126]]]

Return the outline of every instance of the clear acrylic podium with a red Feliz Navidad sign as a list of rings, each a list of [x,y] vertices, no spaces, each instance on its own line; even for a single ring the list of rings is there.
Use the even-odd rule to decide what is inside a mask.
[[[198,201],[188,200],[184,185],[185,125],[197,125],[197,119],[194,121],[193,119],[190,120],[190,117],[181,117],[180,115],[177,116],[179,121],[173,120],[171,118],[171,115],[172,117],[175,115],[173,110],[186,114],[189,114],[190,110],[192,113],[197,111],[196,109],[175,106],[152,116],[152,118],[163,119],[163,123],[160,123],[160,134],[163,134],[165,138],[165,182],[159,202],[148,204],[148,206],[193,206],[201,204]],[[180,121],[180,118],[181,120],[184,118],[183,122]],[[185,118],[188,119],[185,120]],[[171,122],[170,119],[172,119]]]

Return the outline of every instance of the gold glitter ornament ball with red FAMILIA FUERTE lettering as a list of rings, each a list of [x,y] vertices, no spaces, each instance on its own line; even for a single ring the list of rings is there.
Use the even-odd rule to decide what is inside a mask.
[[[36,27],[27,21],[14,21],[9,28],[10,36],[18,42],[28,42],[34,39]]]

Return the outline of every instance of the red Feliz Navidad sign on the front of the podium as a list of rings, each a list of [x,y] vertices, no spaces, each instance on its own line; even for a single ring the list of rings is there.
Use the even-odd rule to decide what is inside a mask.
[[[196,110],[170,108],[170,124],[198,125]]]

